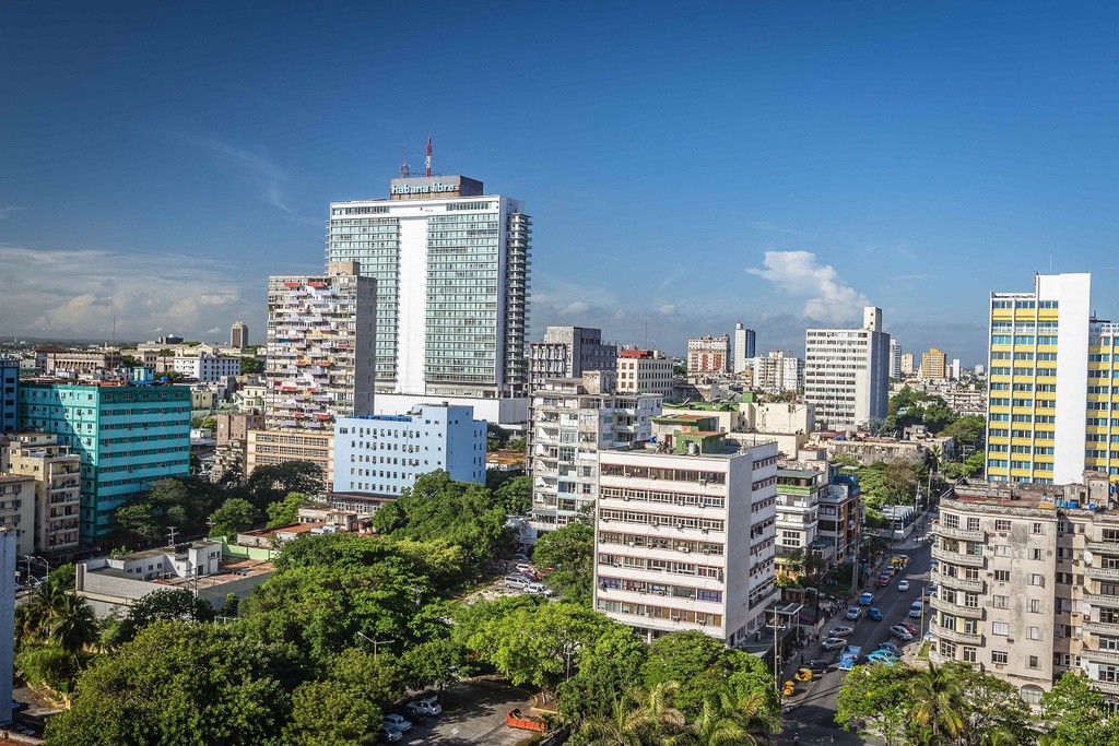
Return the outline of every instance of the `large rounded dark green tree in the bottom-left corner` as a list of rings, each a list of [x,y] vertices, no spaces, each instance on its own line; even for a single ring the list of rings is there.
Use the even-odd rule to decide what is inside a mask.
[[[236,629],[160,622],[78,681],[47,726],[53,746],[279,746],[297,686],[288,651],[246,644]]]

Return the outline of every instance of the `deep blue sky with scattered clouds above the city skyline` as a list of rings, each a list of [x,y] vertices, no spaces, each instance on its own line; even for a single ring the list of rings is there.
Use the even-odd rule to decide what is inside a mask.
[[[414,168],[534,217],[533,337],[884,309],[984,357],[990,290],[1119,315],[1115,3],[3,3],[0,334],[220,339]],[[647,331],[648,330],[648,331]]]

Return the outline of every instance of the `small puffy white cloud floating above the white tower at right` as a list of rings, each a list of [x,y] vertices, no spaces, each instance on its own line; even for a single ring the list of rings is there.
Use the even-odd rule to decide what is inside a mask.
[[[803,315],[812,321],[846,322],[861,318],[871,302],[839,276],[830,264],[820,265],[811,252],[765,252],[764,270],[746,272],[768,280],[782,292],[806,298]]]

